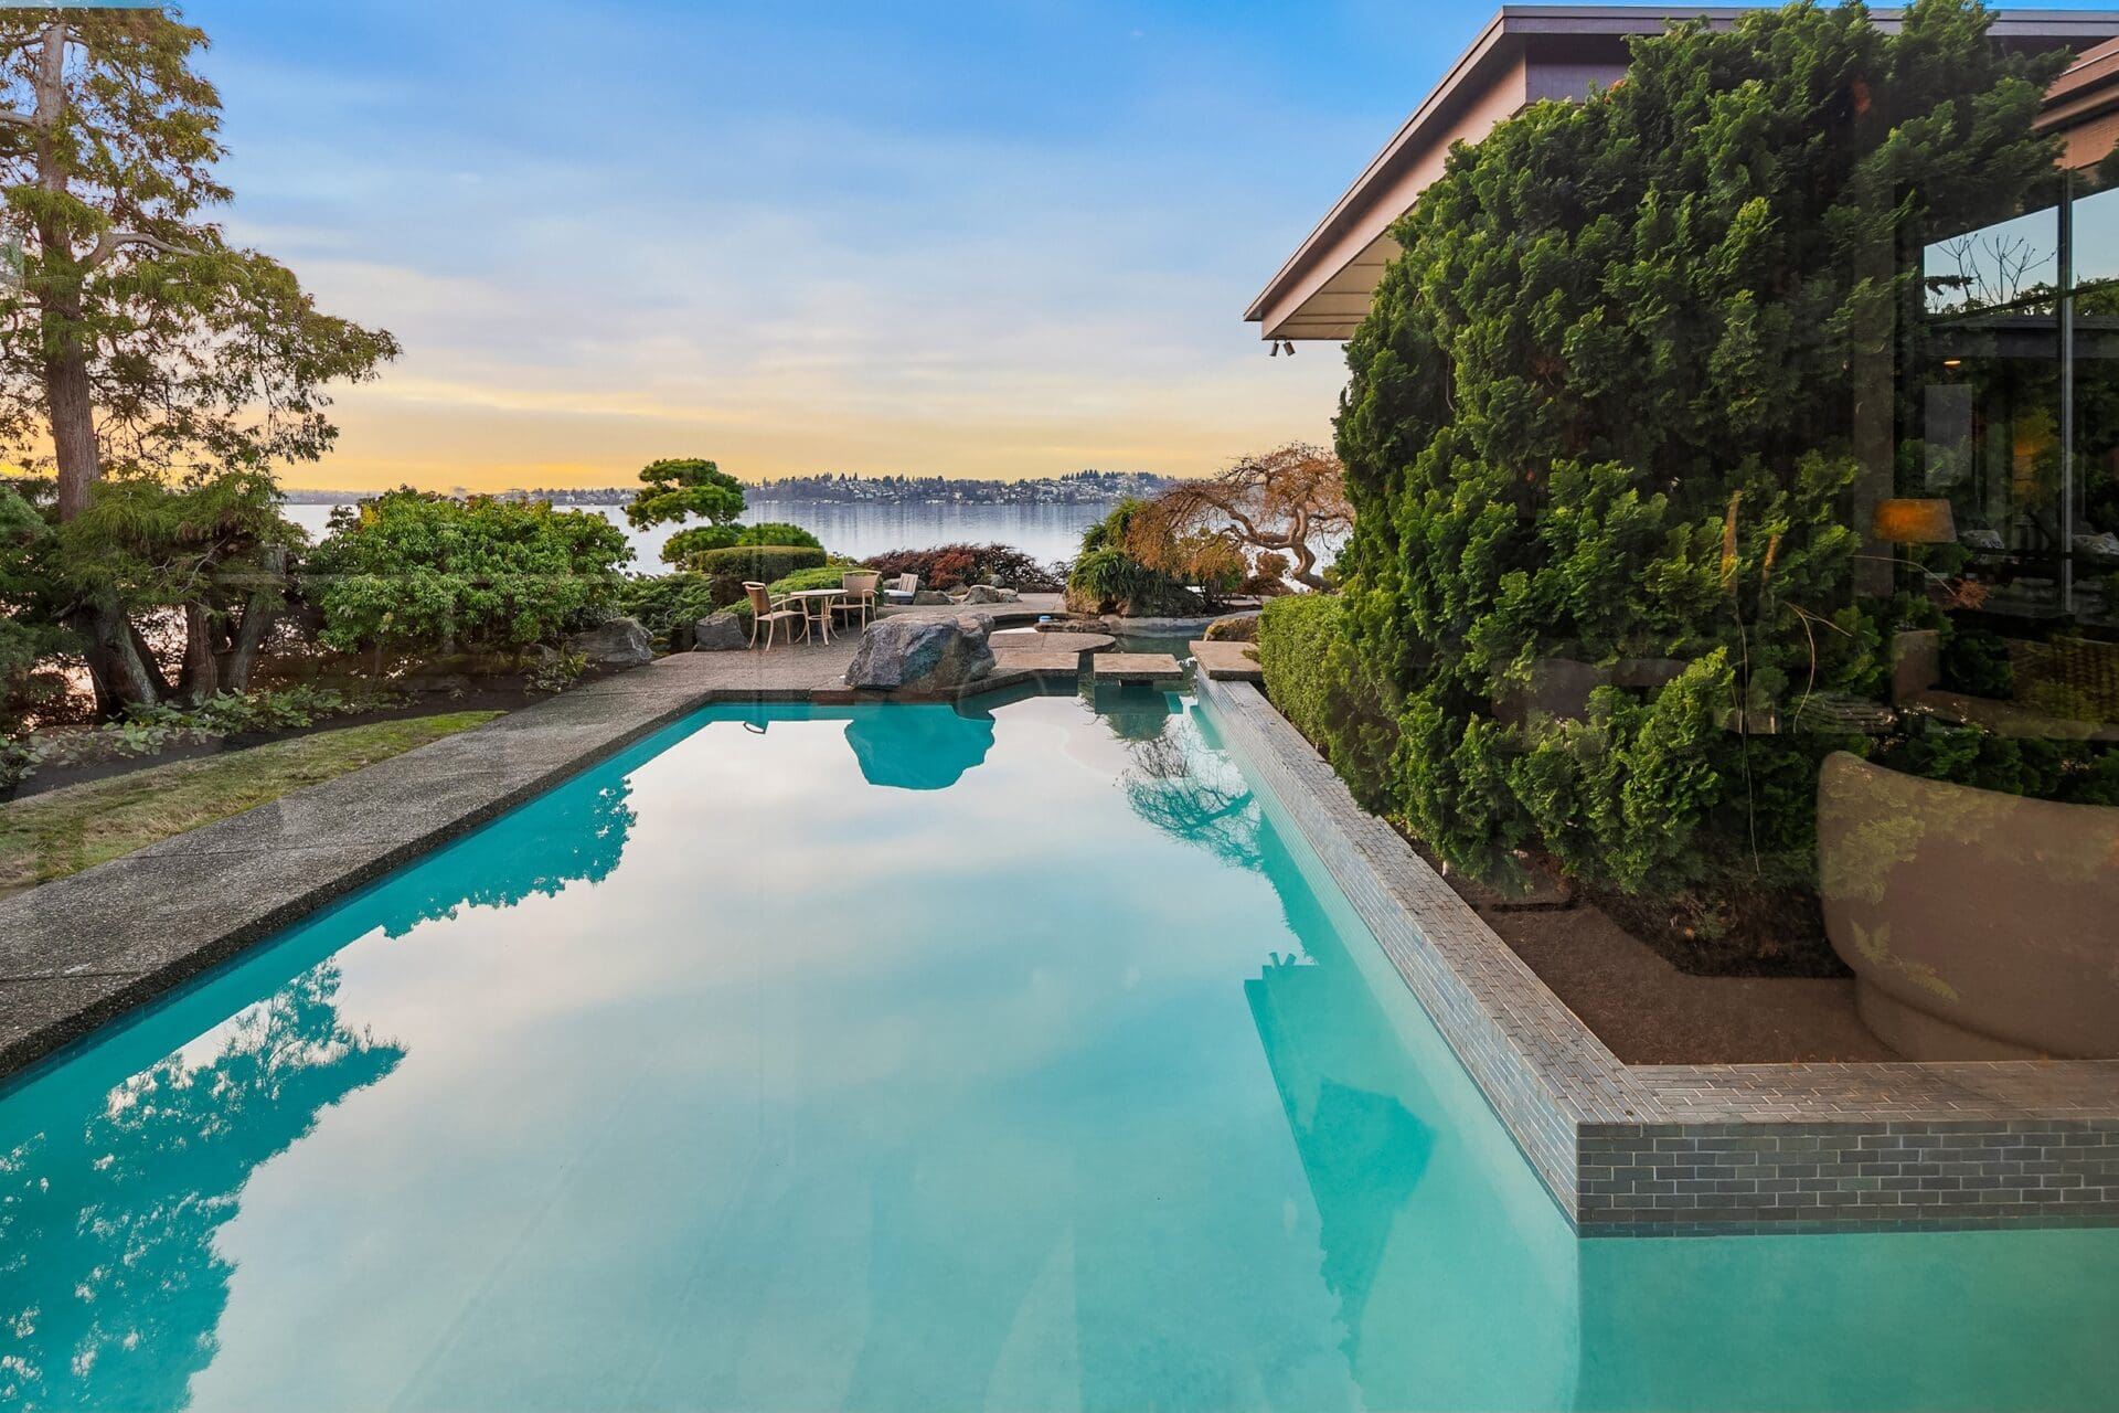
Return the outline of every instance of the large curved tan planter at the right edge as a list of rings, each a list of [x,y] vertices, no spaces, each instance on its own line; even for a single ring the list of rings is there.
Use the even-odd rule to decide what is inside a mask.
[[[2119,1057],[2119,809],[1818,777],[1824,930],[1907,1059]]]

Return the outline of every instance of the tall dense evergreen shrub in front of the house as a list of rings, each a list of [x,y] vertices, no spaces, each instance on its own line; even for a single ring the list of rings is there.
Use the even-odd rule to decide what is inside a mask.
[[[1986,25],[1958,0],[1899,34],[1812,4],[1678,25],[1623,85],[1456,148],[1392,229],[1337,447],[1343,638],[1401,739],[1333,744],[1360,697],[1320,644],[1280,674],[1443,860],[1543,845],[1649,896],[1808,875],[1816,739],[1755,727],[1884,682],[1852,606],[1856,373],[1890,337],[1905,362],[1924,239],[2009,214],[2055,157],[2030,123],[2060,59]],[[1299,604],[1261,657],[1276,610],[1326,612]],[[1551,663],[1680,667],[1511,710]]]

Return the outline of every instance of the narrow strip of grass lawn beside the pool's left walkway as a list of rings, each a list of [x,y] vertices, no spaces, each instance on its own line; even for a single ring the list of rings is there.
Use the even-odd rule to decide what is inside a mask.
[[[500,712],[451,712],[341,727],[8,801],[0,805],[0,898],[496,716]]]

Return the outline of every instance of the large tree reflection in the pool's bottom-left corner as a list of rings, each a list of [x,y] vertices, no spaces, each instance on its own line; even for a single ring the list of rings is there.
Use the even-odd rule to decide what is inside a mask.
[[[233,1275],[214,1235],[250,1174],[405,1057],[350,1030],[337,989],[324,962],[229,1021],[210,1061],[170,1055],[0,1155],[0,1405],[189,1400]]]

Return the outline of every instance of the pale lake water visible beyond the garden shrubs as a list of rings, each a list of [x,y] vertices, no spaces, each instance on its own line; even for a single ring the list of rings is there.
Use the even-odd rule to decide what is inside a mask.
[[[634,547],[634,572],[659,572],[661,547],[678,530],[676,525],[655,525],[634,530],[625,523],[621,506],[583,506],[608,517],[625,530]],[[841,555],[860,559],[888,549],[932,549],[934,544],[1013,544],[1034,559],[1072,559],[1081,549],[1081,532],[1102,519],[1106,504],[860,504],[841,500],[752,500],[744,511],[746,523],[786,521],[801,525],[824,547]],[[288,519],[309,532],[324,536],[331,506],[286,506]]]

